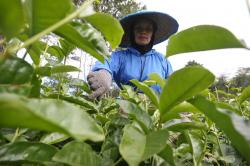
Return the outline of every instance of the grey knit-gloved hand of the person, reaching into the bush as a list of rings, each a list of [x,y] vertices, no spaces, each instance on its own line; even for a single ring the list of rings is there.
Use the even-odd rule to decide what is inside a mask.
[[[111,84],[112,76],[107,70],[98,70],[95,72],[90,72],[87,76],[88,84],[93,90],[90,98],[95,99],[106,93]]]

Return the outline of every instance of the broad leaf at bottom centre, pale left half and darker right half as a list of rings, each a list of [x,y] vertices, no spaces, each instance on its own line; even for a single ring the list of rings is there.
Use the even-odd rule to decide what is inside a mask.
[[[139,163],[162,151],[168,138],[167,130],[143,134],[133,125],[126,125],[119,146],[120,153],[130,166]]]

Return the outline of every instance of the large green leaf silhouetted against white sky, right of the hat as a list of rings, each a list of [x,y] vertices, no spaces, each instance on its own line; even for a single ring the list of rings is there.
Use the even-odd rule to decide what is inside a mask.
[[[170,37],[167,56],[223,48],[245,48],[229,30],[214,25],[199,25]]]

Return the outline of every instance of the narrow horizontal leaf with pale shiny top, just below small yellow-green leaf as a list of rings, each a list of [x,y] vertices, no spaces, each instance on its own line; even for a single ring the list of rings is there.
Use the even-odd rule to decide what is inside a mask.
[[[186,129],[206,129],[206,125],[202,122],[192,122],[185,119],[172,119],[163,124],[163,128],[169,131],[183,131]]]

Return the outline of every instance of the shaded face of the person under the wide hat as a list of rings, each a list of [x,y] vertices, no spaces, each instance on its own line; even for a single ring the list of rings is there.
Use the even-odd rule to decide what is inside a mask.
[[[147,45],[150,43],[153,35],[153,25],[148,20],[140,20],[134,26],[135,42],[138,45]]]

